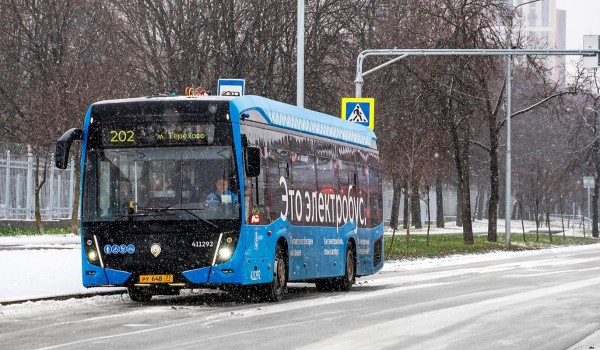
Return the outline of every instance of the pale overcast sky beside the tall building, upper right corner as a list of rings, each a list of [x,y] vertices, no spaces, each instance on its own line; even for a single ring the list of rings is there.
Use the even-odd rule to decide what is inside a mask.
[[[583,48],[583,36],[600,35],[600,0],[556,0],[567,11],[567,49]]]

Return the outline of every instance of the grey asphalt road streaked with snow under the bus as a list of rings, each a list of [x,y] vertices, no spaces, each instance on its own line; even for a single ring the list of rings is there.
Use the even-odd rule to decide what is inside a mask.
[[[350,293],[277,304],[195,292],[0,307],[6,349],[598,348],[600,245],[388,264]],[[587,338],[590,336],[590,338]],[[587,339],[586,339],[587,338]]]

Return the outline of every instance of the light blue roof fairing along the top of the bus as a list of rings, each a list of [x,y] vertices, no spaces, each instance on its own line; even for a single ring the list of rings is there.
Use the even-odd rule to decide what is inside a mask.
[[[230,101],[231,109],[248,113],[248,120],[265,123],[302,133],[322,136],[364,147],[377,148],[375,133],[364,125],[341,118],[301,108],[260,96],[246,95]]]

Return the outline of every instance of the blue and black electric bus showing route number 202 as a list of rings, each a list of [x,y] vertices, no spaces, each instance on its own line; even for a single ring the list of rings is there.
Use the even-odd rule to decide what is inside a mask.
[[[367,127],[258,96],[162,96],[92,104],[59,138],[58,168],[74,140],[85,287],[279,301],[288,282],[348,290],[383,267]]]

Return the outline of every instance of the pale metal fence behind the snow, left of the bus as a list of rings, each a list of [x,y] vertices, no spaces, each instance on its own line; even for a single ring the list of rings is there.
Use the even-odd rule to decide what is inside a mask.
[[[35,219],[35,163],[31,152],[0,153],[0,220]],[[70,219],[76,181],[74,162],[61,170],[54,167],[52,160],[46,176],[40,192],[42,220]]]

